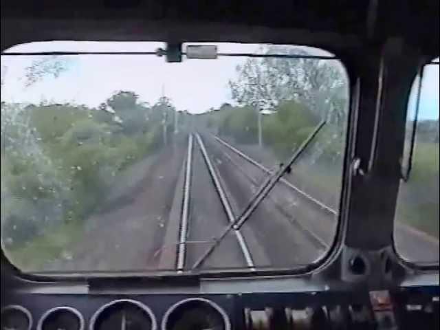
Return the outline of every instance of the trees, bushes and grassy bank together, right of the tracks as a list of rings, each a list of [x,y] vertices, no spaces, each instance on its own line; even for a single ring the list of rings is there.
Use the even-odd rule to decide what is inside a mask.
[[[344,67],[334,59],[307,58],[311,54],[303,47],[272,45],[265,53],[305,58],[248,58],[237,65],[236,76],[228,84],[233,105],[210,109],[199,116],[199,122],[274,166],[293,155],[325,120],[288,179],[337,208],[349,105]],[[255,148],[260,140],[261,147]]]

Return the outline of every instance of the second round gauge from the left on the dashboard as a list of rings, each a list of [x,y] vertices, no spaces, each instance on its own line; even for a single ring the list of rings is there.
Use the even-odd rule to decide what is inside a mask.
[[[83,330],[84,318],[72,307],[56,307],[46,311],[39,320],[38,330]]]

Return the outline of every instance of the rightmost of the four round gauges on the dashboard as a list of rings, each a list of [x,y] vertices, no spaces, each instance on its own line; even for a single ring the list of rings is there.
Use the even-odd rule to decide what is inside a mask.
[[[230,330],[228,315],[210,300],[190,298],[168,309],[162,330]]]

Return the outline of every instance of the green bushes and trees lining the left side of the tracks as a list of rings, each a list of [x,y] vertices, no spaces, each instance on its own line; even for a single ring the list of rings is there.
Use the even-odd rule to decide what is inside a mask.
[[[176,109],[118,91],[98,109],[1,104],[1,231],[6,244],[83,221],[115,177],[173,137]],[[164,137],[167,134],[168,137]]]

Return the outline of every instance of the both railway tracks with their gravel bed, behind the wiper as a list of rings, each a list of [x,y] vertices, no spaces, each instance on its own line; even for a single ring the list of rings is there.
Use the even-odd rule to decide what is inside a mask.
[[[181,173],[177,272],[194,268],[259,189],[261,173],[268,177],[272,170],[218,136],[194,133],[188,135]],[[292,199],[298,202],[291,203]],[[254,271],[311,263],[331,246],[337,215],[337,210],[281,178],[256,208],[253,219],[243,227],[232,227],[228,242],[223,242],[223,249],[216,248],[217,256],[209,267]],[[293,254],[286,254],[291,250]]]

